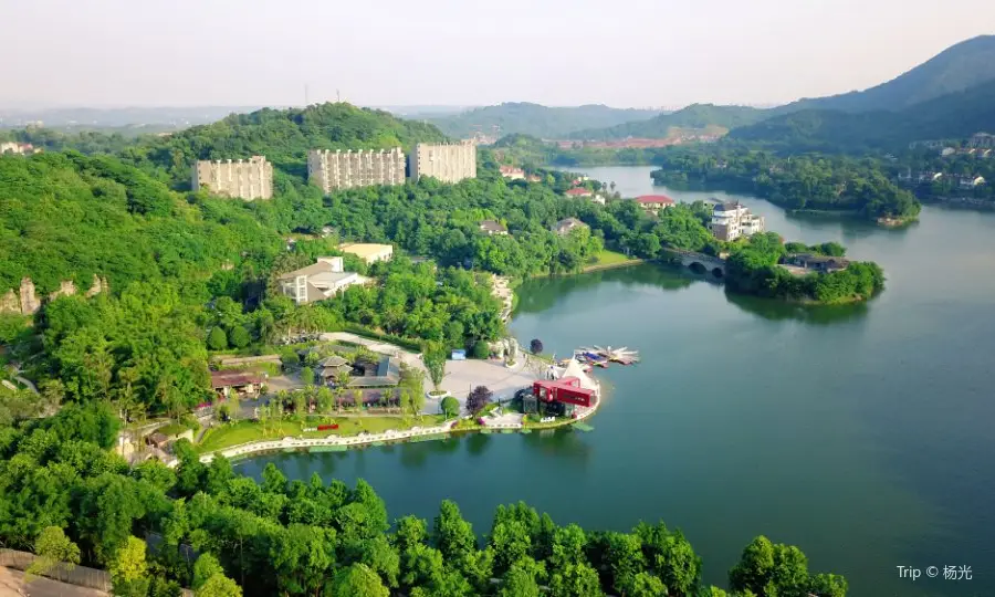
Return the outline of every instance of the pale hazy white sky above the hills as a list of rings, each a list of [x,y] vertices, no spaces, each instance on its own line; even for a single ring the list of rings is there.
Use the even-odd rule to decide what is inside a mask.
[[[995,0],[0,0],[0,106],[680,106],[865,88]]]

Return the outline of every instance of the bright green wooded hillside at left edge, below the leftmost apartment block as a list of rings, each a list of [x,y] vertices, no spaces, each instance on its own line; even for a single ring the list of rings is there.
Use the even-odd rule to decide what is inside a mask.
[[[25,276],[42,294],[63,280],[87,289],[94,274],[112,289],[164,279],[192,289],[242,254],[279,251],[258,207],[197,197],[108,156],[0,156],[0,294]]]

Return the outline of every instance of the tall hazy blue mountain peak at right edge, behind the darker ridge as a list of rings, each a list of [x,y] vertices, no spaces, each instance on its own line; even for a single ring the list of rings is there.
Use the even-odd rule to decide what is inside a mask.
[[[799,109],[900,111],[995,80],[995,35],[954,44],[907,73],[860,92],[799,100],[775,113]]]

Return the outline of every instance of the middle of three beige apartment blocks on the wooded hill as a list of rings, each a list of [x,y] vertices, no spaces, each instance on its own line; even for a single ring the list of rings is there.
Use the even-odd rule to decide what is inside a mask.
[[[405,154],[400,147],[379,151],[312,149],[307,178],[323,191],[376,185],[405,184]]]

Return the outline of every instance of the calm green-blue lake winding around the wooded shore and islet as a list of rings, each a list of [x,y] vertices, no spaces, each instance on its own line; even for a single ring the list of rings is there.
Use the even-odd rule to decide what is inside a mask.
[[[846,575],[858,597],[995,595],[995,213],[925,207],[919,223],[887,230],[653,188],[647,167],[572,170],[624,196],[739,198],[786,239],[835,240],[877,261],[887,290],[803,308],[656,265],[531,281],[511,324],[526,345],[641,353],[597,373],[609,389],[594,431],[277,454],[241,469],[364,478],[391,516],[431,521],[454,499],[479,533],[517,500],[586,528],[663,520],[720,586],[765,534],[798,545],[813,570]],[[974,578],[912,583],[899,565],[967,565]]]

